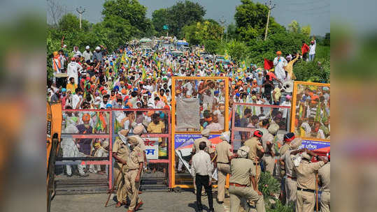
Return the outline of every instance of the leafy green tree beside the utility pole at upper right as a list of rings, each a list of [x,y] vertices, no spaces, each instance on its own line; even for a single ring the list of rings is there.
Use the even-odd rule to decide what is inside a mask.
[[[269,9],[262,3],[253,3],[250,0],[241,0],[241,3],[240,6],[236,7],[236,13],[234,14],[237,33],[245,41],[253,38],[262,38],[266,29]],[[271,16],[269,23],[269,35],[285,30]]]

